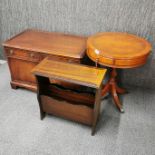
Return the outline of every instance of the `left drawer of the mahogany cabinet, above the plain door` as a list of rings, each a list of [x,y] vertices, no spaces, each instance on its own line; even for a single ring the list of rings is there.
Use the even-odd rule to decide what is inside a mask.
[[[40,61],[40,54],[32,51],[25,51],[20,49],[6,49],[6,56],[16,59],[28,60],[33,62]]]

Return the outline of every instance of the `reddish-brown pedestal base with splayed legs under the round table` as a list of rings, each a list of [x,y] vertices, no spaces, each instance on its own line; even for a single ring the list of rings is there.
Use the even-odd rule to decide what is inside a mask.
[[[102,96],[105,96],[105,94],[108,92],[111,93],[111,95],[114,99],[115,105],[117,106],[119,111],[123,113],[124,109],[123,109],[122,104],[119,100],[118,93],[124,94],[124,93],[126,93],[126,90],[118,87],[117,82],[116,82],[116,76],[117,76],[116,69],[113,68],[111,71],[111,76],[110,76],[108,83],[102,89]]]

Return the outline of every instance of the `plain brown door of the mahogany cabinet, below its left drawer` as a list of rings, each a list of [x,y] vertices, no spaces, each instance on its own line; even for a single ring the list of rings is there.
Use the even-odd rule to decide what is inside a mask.
[[[36,83],[31,70],[37,65],[37,63],[16,58],[9,58],[8,62],[13,81]]]

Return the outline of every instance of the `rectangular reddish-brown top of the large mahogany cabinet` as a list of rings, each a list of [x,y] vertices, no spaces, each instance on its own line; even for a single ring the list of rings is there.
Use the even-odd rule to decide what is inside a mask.
[[[76,35],[26,30],[4,42],[3,46],[71,58],[82,58],[86,50],[86,40],[86,37]]]

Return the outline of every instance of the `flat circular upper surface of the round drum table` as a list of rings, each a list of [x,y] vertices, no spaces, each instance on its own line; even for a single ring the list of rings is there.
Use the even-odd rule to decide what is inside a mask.
[[[103,32],[88,38],[89,52],[111,59],[134,59],[149,54],[150,43],[138,36],[121,32]]]

